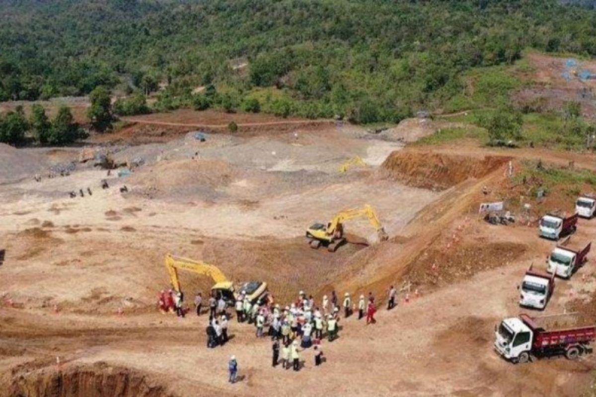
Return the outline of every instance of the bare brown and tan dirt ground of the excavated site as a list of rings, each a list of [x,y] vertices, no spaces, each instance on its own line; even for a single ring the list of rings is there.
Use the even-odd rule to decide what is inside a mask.
[[[141,157],[130,176],[77,163],[70,176],[0,185],[0,395],[579,396],[594,380],[591,355],[513,365],[493,352],[493,326],[526,311],[516,286],[530,264],[544,266],[554,243],[539,239],[535,224],[492,226],[477,214],[480,202],[511,189],[508,161],[515,170],[526,158],[595,170],[594,155],[468,142],[404,149],[350,126],[166,140],[97,147],[119,161]],[[35,154],[48,164],[78,155]],[[354,155],[367,167],[339,173]],[[69,197],[79,189],[84,197]],[[364,204],[388,241],[353,220],[336,253],[308,247],[306,227]],[[594,239],[594,222],[581,220],[573,238]],[[232,319],[232,340],[206,349],[206,315],[159,314],[168,252],[212,262],[237,282],[266,280],[282,304],[299,290],[320,301],[335,289],[373,292],[382,305],[387,287],[402,290],[377,324],[342,319],[340,338],[323,342],[327,361],[315,368],[305,351],[295,373],[271,368],[269,341],[252,326]],[[582,310],[596,321],[592,262],[557,280],[544,314]],[[181,282],[188,302],[212,283],[190,273]],[[226,378],[232,354],[235,385]]]

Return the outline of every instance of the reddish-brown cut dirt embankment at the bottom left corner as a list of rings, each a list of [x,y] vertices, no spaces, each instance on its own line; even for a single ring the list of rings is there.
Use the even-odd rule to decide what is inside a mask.
[[[157,385],[145,374],[101,363],[15,374],[8,386],[8,396],[174,397],[166,387]]]

